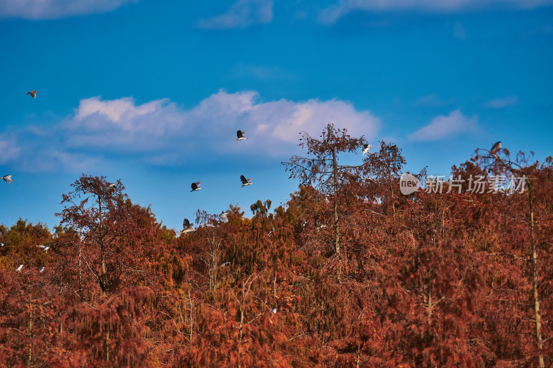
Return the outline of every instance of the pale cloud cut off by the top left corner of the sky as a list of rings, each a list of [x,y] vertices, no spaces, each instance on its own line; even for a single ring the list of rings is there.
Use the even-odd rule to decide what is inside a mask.
[[[109,12],[138,0],[0,0],[0,17],[55,19]]]

